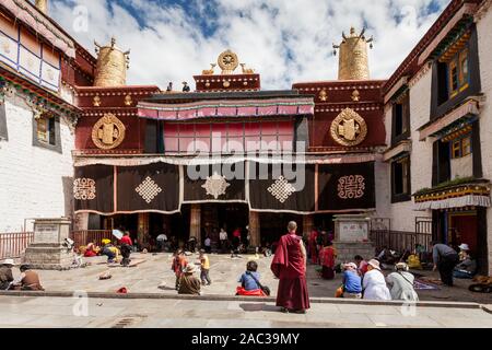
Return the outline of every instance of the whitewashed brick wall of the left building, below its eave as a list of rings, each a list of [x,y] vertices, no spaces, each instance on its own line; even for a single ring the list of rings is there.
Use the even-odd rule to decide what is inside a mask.
[[[26,218],[71,215],[63,177],[73,176],[74,135],[67,120],[60,118],[60,154],[33,145],[33,113],[21,96],[5,97],[5,108],[9,140],[0,141],[0,233],[22,231]]]

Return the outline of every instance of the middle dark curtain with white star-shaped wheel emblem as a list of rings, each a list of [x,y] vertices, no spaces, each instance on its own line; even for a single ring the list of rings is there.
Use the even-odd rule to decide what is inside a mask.
[[[246,201],[245,163],[184,166],[184,191],[185,202]]]

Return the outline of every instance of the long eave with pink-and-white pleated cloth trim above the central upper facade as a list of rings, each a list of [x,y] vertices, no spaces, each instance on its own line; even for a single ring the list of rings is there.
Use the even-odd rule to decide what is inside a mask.
[[[200,97],[199,101],[196,101]],[[185,100],[183,100],[185,98]],[[141,118],[191,120],[218,117],[313,115],[313,97],[296,92],[164,94],[138,104]]]

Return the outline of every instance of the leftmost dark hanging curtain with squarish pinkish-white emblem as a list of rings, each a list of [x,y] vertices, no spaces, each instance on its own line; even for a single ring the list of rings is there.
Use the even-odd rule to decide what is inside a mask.
[[[114,167],[89,165],[75,167],[73,201],[77,211],[101,214],[114,212]]]

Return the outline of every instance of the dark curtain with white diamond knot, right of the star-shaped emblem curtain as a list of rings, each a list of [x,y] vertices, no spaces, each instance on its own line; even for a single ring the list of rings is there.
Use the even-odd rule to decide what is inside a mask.
[[[315,165],[250,162],[249,201],[257,211],[314,212]]]

